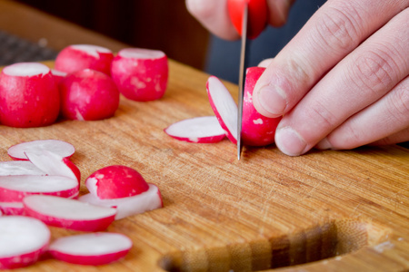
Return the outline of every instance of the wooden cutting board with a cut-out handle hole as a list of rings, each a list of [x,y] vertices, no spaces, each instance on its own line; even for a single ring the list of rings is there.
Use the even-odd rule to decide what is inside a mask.
[[[47,63],[52,65],[53,63]],[[165,127],[213,115],[208,75],[170,62],[165,97],[122,98],[115,117],[35,129],[0,126],[0,159],[21,141],[71,142],[84,180],[113,164],[139,170],[165,207],[115,221],[134,241],[124,260],[82,267],[44,259],[27,271],[405,271],[409,151],[398,146],[283,155],[274,146],[176,141]],[[236,86],[226,83],[236,96]],[[51,228],[53,238],[77,233]]]

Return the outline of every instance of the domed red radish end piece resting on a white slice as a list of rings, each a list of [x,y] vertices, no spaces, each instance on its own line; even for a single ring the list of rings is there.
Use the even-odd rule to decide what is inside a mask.
[[[131,197],[149,189],[138,171],[124,165],[96,170],[85,180],[85,186],[99,199]]]

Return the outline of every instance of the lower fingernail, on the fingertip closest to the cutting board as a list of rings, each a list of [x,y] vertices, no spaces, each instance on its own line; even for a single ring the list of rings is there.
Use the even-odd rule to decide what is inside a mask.
[[[275,131],[275,145],[288,156],[299,156],[307,146],[301,135],[291,127],[284,127]]]

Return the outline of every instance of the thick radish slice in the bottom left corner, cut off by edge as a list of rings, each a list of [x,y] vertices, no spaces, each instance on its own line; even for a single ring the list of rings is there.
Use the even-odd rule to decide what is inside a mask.
[[[0,217],[0,269],[34,264],[48,248],[50,237],[50,230],[38,219]]]

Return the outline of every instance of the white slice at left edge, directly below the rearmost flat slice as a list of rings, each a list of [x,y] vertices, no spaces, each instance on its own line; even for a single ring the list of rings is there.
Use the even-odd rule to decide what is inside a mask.
[[[28,160],[0,161],[0,176],[16,175],[45,176],[45,172]]]

